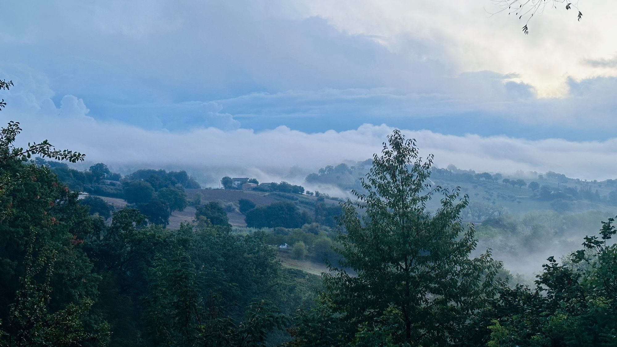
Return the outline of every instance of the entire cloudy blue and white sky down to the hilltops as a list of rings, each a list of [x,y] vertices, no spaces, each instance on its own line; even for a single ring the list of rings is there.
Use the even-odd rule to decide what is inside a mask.
[[[0,117],[212,182],[361,161],[394,128],[442,167],[617,178],[617,3],[576,5],[524,35],[494,0],[4,2]]]

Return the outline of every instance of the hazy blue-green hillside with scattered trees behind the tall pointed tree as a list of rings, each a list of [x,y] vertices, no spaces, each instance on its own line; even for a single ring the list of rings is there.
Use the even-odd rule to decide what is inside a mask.
[[[328,165],[308,175],[305,182],[324,190],[336,187],[347,192],[362,191],[360,178],[370,169],[368,163],[370,161]],[[611,212],[617,206],[616,180],[586,181],[555,172],[477,173],[453,165],[447,169],[433,167],[431,172],[431,187],[441,186],[452,191],[459,186],[461,193],[469,196],[470,207],[463,217],[475,222],[503,212],[515,215],[530,211]],[[429,204],[431,207],[438,205],[439,199],[433,199]]]

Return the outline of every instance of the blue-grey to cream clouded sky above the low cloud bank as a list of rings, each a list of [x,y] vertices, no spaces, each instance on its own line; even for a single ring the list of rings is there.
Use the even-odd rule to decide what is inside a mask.
[[[417,119],[464,115],[467,124],[450,128],[526,137],[532,125],[551,125],[592,138],[593,127],[611,124],[611,90],[576,88],[617,75],[584,63],[613,54],[606,28],[617,5],[589,4],[594,20],[580,23],[547,11],[529,36],[507,15],[487,18],[476,5],[110,0],[26,10],[15,2],[3,9],[0,42],[3,59],[44,71],[50,89],[84,99],[92,117],[149,130],[230,130],[242,122],[323,132],[386,121],[446,132]],[[200,111],[199,102],[212,101],[225,111]]]

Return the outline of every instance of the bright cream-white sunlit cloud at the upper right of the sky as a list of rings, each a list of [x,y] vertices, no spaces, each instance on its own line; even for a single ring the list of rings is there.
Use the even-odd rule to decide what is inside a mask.
[[[585,14],[581,22],[574,10],[549,5],[544,14],[529,22],[529,35],[521,33],[524,22],[514,14],[489,17],[489,12],[499,9],[490,0],[312,0],[302,4],[296,12],[299,17],[317,15],[346,33],[378,37],[376,41],[395,54],[418,54],[406,45],[405,38],[424,42],[429,49],[421,51],[421,56],[443,62],[453,73],[516,72],[540,96],[564,96],[567,77],[617,75],[616,66],[584,63],[615,54],[615,1],[579,2]]]

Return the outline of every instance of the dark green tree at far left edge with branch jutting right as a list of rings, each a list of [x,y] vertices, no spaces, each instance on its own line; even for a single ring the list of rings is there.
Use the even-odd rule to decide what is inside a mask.
[[[12,85],[0,80],[0,90]],[[84,156],[47,140],[17,147],[21,131],[17,122],[0,131],[0,346],[85,344],[105,330],[91,315],[98,278],[81,248],[93,220],[48,167],[27,163]]]

